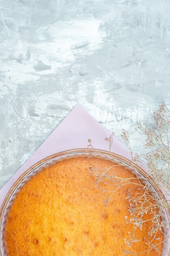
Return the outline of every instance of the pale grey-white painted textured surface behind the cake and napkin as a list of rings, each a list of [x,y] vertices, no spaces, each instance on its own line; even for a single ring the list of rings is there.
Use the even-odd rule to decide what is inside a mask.
[[[0,0],[0,187],[77,102],[142,151],[169,81],[168,0]]]

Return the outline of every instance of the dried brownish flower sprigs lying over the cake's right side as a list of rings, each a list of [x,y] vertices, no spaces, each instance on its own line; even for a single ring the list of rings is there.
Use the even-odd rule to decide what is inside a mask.
[[[117,177],[110,173],[110,168],[102,170],[91,168],[90,170],[90,173],[96,177],[96,186],[107,194],[107,197],[105,197],[107,205],[109,205],[114,193],[123,186],[127,184],[138,186],[136,193],[130,190],[127,192],[126,200],[129,202],[131,218],[125,216],[125,222],[133,225],[134,231],[133,234],[128,232],[129,239],[124,238],[125,247],[122,248],[124,255],[149,256],[153,250],[155,250],[155,253],[158,252],[159,255],[163,255],[163,252],[160,251],[160,244],[168,243],[169,240],[167,229],[170,227],[170,220],[166,219],[164,215],[165,211],[170,209],[170,202],[166,200],[164,195],[170,196],[170,110],[165,103],[162,103],[152,117],[154,120],[153,127],[148,127],[147,125],[142,127],[140,122],[137,124],[139,130],[146,135],[144,154],[133,154],[129,133],[124,129],[122,130],[121,137],[131,152],[129,165],[135,171],[134,178]],[[110,154],[113,135],[112,133],[109,138],[105,138],[109,142]],[[90,139],[88,142],[88,148],[93,148]],[[114,162],[116,162],[114,166],[124,166],[123,162],[116,159],[114,159]],[[145,179],[140,177],[137,166],[140,166],[147,173]],[[155,187],[157,191],[154,190]],[[146,213],[149,213],[149,219],[144,218]],[[148,238],[144,241],[148,249],[135,254],[131,246],[133,243],[139,242],[139,239],[135,236],[136,230],[142,229],[146,222],[151,223],[147,234]],[[164,236],[161,242],[159,242],[159,237],[157,236],[158,232],[161,232]],[[166,255],[170,255],[170,252],[168,251]]]

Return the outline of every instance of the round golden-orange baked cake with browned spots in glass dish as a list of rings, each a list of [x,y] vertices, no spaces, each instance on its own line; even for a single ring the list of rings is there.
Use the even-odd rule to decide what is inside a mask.
[[[7,256],[123,256],[125,239],[133,232],[127,191],[136,193],[138,184],[127,184],[111,197],[107,207],[105,193],[95,186],[90,170],[109,171],[133,178],[129,170],[97,157],[73,157],[44,168],[31,178],[11,205],[5,226]],[[105,182],[102,186],[107,186]],[[146,215],[146,216],[145,216]],[[148,211],[146,219],[152,219]],[[146,241],[151,220],[136,230],[129,250],[142,256],[160,256],[163,234],[157,232],[158,250],[148,252]],[[154,243],[154,241],[153,241]],[[155,240],[155,243],[156,242]]]

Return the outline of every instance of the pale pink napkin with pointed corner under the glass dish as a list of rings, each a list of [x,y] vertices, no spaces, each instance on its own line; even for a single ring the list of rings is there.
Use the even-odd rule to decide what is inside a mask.
[[[76,105],[35,153],[21,166],[2,189],[0,189],[0,207],[13,183],[33,164],[48,155],[63,150],[87,148],[88,139],[92,140],[94,148],[109,150],[109,143],[104,139],[105,137],[109,137],[111,132],[99,124],[98,121],[89,115],[79,104]],[[130,158],[128,148],[116,137],[113,138],[111,151],[126,158]]]

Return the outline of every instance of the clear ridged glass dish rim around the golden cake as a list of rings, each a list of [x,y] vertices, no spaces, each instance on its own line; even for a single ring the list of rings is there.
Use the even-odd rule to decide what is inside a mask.
[[[106,150],[99,150],[99,149],[88,149],[87,148],[78,148],[78,149],[72,149],[72,150],[65,150],[59,153],[56,153],[54,155],[50,155],[41,161],[37,162],[33,166],[31,166],[28,170],[26,170],[13,184],[9,192],[7,193],[6,198],[4,199],[4,202],[2,204],[2,207],[0,209],[0,256],[7,256],[6,248],[4,245],[4,229],[5,224],[7,220],[7,215],[9,212],[9,209],[11,207],[11,204],[13,203],[13,200],[15,196],[17,195],[18,191],[24,186],[24,184],[30,180],[34,175],[36,175],[39,171],[44,169],[47,166],[50,166],[51,164],[54,164],[56,162],[62,161],[64,159],[69,159],[72,157],[88,157],[89,152],[92,154],[93,157],[101,157],[113,162],[120,162],[121,164],[124,164],[125,168],[128,168],[131,172],[134,173],[133,167],[130,165],[129,160],[125,157],[122,157],[115,153],[110,153]],[[135,164],[135,169],[137,169],[137,173],[135,172],[135,175],[142,180],[142,182],[146,183],[146,172],[137,166]],[[151,180],[150,177],[147,175],[147,182]],[[160,190],[155,186],[153,187],[153,191],[159,192]],[[164,195],[162,195],[162,198],[165,199]],[[170,219],[170,209],[166,209],[164,211],[164,218],[165,220]],[[166,230],[166,234],[168,238],[170,237],[170,227]],[[170,255],[170,243],[166,242],[163,245],[163,255]]]

